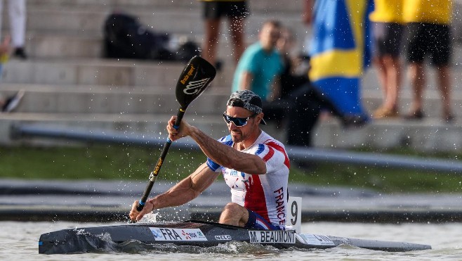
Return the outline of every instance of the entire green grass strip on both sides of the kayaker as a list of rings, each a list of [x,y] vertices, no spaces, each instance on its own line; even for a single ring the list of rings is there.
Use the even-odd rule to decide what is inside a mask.
[[[0,178],[20,179],[147,179],[161,153],[160,148],[95,145],[86,147],[0,147]],[[412,151],[393,151],[412,154]],[[413,155],[422,155],[414,153]],[[460,159],[460,155],[435,154],[433,157]],[[186,177],[206,157],[200,151],[171,148],[158,179],[176,182]],[[382,192],[462,193],[462,176],[432,170],[311,163],[297,167],[292,163],[289,182],[316,186],[344,186]]]

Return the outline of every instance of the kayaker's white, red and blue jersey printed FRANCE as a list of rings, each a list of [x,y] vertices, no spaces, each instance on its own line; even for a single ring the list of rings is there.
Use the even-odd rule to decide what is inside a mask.
[[[219,139],[232,146],[231,136]],[[244,153],[258,155],[265,161],[265,174],[251,174],[222,167],[211,160],[207,165],[215,172],[222,172],[230,186],[232,202],[258,213],[272,224],[284,229],[287,214],[287,184],[289,182],[289,157],[284,145],[262,132],[255,143]]]

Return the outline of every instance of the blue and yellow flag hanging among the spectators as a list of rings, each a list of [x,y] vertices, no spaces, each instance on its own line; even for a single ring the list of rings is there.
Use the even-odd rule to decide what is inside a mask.
[[[371,0],[305,1],[303,20],[312,25],[309,78],[342,115],[358,124],[368,116],[361,104],[360,82],[369,65]]]

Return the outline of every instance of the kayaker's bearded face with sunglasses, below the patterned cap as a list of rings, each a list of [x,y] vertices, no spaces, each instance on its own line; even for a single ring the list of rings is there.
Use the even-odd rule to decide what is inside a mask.
[[[231,117],[246,118],[254,115],[254,113],[242,107],[227,106],[226,115]],[[227,123],[227,129],[230,131],[232,141],[235,143],[239,143],[248,139],[257,127],[258,122],[256,121],[255,116],[250,117],[247,121],[247,124],[242,127],[237,127],[234,122]]]

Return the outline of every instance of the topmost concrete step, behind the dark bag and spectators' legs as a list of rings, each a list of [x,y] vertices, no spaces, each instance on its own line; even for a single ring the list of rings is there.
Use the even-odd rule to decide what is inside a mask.
[[[305,37],[310,36],[310,27],[301,23],[303,1],[284,1],[282,4],[280,1],[254,0],[249,1],[249,6],[251,15],[246,19],[244,28],[247,44],[256,41],[258,28],[263,21],[277,19],[293,30],[298,39],[298,49],[302,49]],[[455,18],[458,17],[459,10],[462,10],[461,6],[462,1],[455,2]],[[30,56],[55,57],[60,53],[60,49],[80,49],[63,54],[70,54],[71,57],[99,57],[100,55],[91,55],[100,53],[95,50],[100,50],[103,23],[107,15],[114,10],[138,17],[140,23],[157,32],[169,32],[172,36],[185,36],[199,44],[202,43],[204,30],[201,17],[202,3],[199,1],[28,1],[27,49]],[[8,19],[4,18],[3,25],[6,30]],[[462,39],[462,21],[454,19],[453,26],[456,39]],[[219,53],[223,54],[230,53],[225,29],[226,26],[223,25],[223,37],[220,39],[219,48]],[[44,42],[48,44],[44,45]],[[45,46],[48,46],[48,49]],[[56,50],[56,46],[60,49]],[[227,55],[220,58],[232,61]]]

